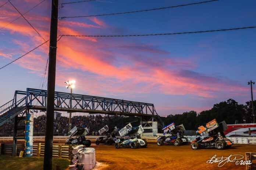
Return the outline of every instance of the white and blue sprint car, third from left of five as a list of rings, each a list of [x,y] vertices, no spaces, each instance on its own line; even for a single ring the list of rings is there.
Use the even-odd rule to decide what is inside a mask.
[[[140,134],[144,132],[141,125],[137,127],[132,127],[131,123],[126,125],[119,131],[121,138],[115,141],[115,148],[119,149],[121,147],[136,149],[138,147],[146,148],[147,141],[141,139]],[[124,136],[127,136],[126,138]]]

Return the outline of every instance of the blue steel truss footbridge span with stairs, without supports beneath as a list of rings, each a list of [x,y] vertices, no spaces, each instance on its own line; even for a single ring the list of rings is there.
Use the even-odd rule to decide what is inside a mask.
[[[47,90],[27,88],[16,90],[13,100],[0,107],[0,126],[26,110],[46,111]],[[154,118],[163,126],[154,104],[111,99],[106,97],[55,92],[54,110],[66,112],[86,112],[89,114],[110,114]]]

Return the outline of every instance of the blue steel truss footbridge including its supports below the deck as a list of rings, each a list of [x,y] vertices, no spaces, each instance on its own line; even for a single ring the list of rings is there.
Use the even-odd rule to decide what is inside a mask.
[[[14,98],[0,107],[0,126],[14,120],[13,156],[17,154],[17,139],[24,139],[26,156],[33,150],[33,115],[29,110],[46,111],[47,90],[27,88],[26,91],[16,90]],[[110,114],[140,117],[144,129],[156,129],[157,124],[164,126],[153,104],[78,95],[73,93],[54,93],[54,110],[65,112],[86,112],[89,114]],[[19,121],[26,120],[25,126],[18,126]],[[158,122],[158,123],[157,123]],[[157,123],[157,124],[156,124]],[[153,128],[154,126],[154,128]],[[17,131],[25,130],[25,136],[18,137]],[[28,147],[29,146],[29,147]],[[29,151],[29,152],[28,152]]]

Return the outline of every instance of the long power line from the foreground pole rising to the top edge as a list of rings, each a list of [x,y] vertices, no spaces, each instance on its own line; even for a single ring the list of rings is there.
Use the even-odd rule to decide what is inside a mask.
[[[118,12],[118,13],[112,13],[112,14],[85,15],[85,16],[64,16],[64,17],[61,17],[59,19],[61,20],[61,19],[65,19],[65,18],[81,18],[81,17],[90,17],[90,16],[106,16],[106,15],[117,15],[117,14],[128,14],[128,13],[134,13],[134,12],[144,12],[144,11],[162,10],[162,9],[167,9],[167,8],[184,7],[184,6],[188,6],[188,5],[196,5],[196,4],[202,4],[202,3],[209,3],[209,2],[213,2],[213,1],[219,1],[219,0],[203,1],[203,2],[198,2],[198,3],[176,5],[176,6],[171,6],[171,7],[154,8],[154,9],[149,9],[149,10],[130,11],[130,12]]]

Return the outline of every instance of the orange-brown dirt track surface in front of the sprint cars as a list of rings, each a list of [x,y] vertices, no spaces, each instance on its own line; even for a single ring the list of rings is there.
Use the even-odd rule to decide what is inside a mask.
[[[245,152],[256,152],[253,144],[234,144],[224,150],[193,150],[189,144],[175,147],[156,143],[138,149],[115,149],[114,144],[90,147],[96,152],[97,163],[93,170],[246,170],[246,165],[240,165],[246,163]]]

